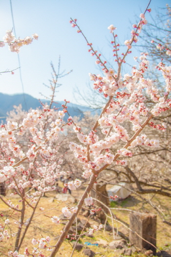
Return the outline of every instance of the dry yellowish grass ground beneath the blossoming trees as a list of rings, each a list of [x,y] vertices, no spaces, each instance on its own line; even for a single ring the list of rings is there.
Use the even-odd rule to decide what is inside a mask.
[[[51,245],[54,245],[58,239],[58,237],[61,234],[61,230],[64,228],[63,224],[56,225],[51,222],[50,218],[47,216],[53,216],[57,215],[59,216],[61,214],[61,209],[62,207],[65,206],[64,202],[58,202],[55,198],[54,201],[53,193],[46,193],[48,197],[43,197],[40,202],[40,207],[43,207],[44,210],[40,211],[39,208],[35,212],[35,217],[33,219],[33,222],[31,223],[29,230],[25,236],[25,239],[23,241],[20,254],[23,254],[25,247],[28,247],[29,251],[32,252],[33,250],[33,245],[31,244],[31,240],[33,237],[36,239],[40,239],[41,237],[46,237],[50,236],[51,237]],[[74,192],[76,195],[77,192]],[[77,195],[78,196],[78,195]],[[18,204],[19,198],[13,197],[12,202],[14,204]],[[153,198],[154,202],[159,206],[160,208],[163,209],[164,214],[167,216],[171,212],[171,199],[167,199],[164,197],[156,197]],[[155,211],[150,207],[148,204],[144,204],[140,199],[138,199],[135,196],[129,196],[127,199],[119,202],[112,202],[111,207],[114,208],[127,208],[131,210],[136,210],[139,212],[152,212],[155,213]],[[2,217],[2,220],[6,219],[6,214],[11,214],[12,211],[9,210],[7,206],[4,205],[3,202],[0,202],[0,212],[3,212],[4,217]],[[122,220],[123,222],[129,224],[129,212],[128,211],[121,211],[121,210],[112,210],[112,212]],[[45,215],[47,216],[45,216]],[[29,209],[26,212],[25,219],[29,218],[30,211]],[[80,217],[84,217],[81,216]],[[85,218],[85,217],[84,217]],[[14,222],[16,220],[19,220],[19,215],[18,213],[13,214],[12,217],[10,218],[11,224],[9,225],[8,233],[15,233],[16,232],[16,225]],[[0,223],[4,223],[3,221],[0,221]],[[111,224],[110,220],[109,223]],[[118,228],[118,230],[122,233],[124,233],[126,236],[128,236],[128,229],[125,228],[123,225],[114,222],[114,226]],[[88,236],[84,236],[81,238],[80,242],[85,244],[85,242],[90,242],[90,243],[95,243],[98,241],[100,238],[105,239],[107,242],[110,242],[113,240],[113,236],[111,232],[105,232],[105,231],[99,231],[94,233],[94,237],[90,238]],[[0,242],[0,256],[8,256],[8,250],[13,250],[14,249],[14,242],[15,242],[16,237],[11,237],[10,240],[4,239],[3,242]],[[72,242],[71,242],[72,245]],[[62,247],[60,248],[60,251],[57,254],[57,257],[69,257],[72,252],[72,247],[71,247],[69,241],[66,239]],[[88,246],[92,251],[96,253],[96,257],[102,257],[102,255],[105,255],[106,257],[114,257],[116,256],[113,252],[113,250],[104,248],[103,245],[99,246]],[[160,250],[167,250],[171,248],[171,228],[164,224],[162,220],[157,217],[157,247]],[[47,257],[50,255],[50,252],[47,252],[43,250],[43,253]],[[75,251],[74,257],[85,257],[85,255],[81,252]],[[136,254],[133,256],[139,256],[139,257],[144,257],[143,254]]]

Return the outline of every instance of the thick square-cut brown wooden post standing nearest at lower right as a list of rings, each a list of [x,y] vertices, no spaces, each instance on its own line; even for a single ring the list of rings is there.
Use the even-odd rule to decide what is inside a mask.
[[[129,216],[129,228],[136,232],[139,236],[156,246],[156,227],[157,215],[155,214],[138,214],[132,213]],[[129,232],[129,241],[131,244],[139,247],[140,249],[152,250],[155,254],[156,249],[151,244],[143,240],[133,232]]]

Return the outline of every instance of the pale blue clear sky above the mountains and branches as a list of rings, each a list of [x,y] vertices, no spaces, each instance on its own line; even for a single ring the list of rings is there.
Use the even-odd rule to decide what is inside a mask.
[[[73,72],[61,79],[63,86],[56,94],[56,101],[64,99],[77,103],[73,96],[74,88],[86,90],[89,81],[88,73],[99,73],[95,58],[88,53],[88,46],[82,35],[76,32],[69,23],[70,17],[78,20],[82,31],[94,49],[104,53],[112,62],[112,51],[109,47],[111,34],[107,27],[113,24],[120,43],[130,39],[131,24],[144,12],[149,0],[12,0],[13,15],[17,37],[24,38],[33,33],[39,35],[38,41],[23,46],[20,52],[21,73],[24,92],[35,98],[39,94],[48,96],[49,90],[43,86],[51,78],[50,62],[58,67],[61,56],[62,70]],[[151,0],[151,15],[156,17],[159,8],[166,7],[171,0]],[[146,15],[150,20],[150,15]],[[0,0],[0,40],[5,31],[12,29],[10,0]],[[127,48],[125,47],[125,50]],[[135,51],[126,61],[135,64],[132,59]],[[5,46],[0,48],[0,71],[19,67],[17,53],[12,53]],[[0,92],[7,94],[22,93],[19,70],[0,76]],[[80,103],[80,102],[79,102]],[[84,104],[84,103],[83,103]]]

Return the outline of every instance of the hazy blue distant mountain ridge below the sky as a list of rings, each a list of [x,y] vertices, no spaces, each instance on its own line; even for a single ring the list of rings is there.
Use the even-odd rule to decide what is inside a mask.
[[[25,98],[25,101],[24,101]],[[41,100],[43,103],[49,104],[49,100]],[[26,103],[26,106],[25,106]],[[7,116],[7,111],[13,110],[14,106],[22,105],[23,110],[28,111],[30,108],[36,109],[37,107],[42,107],[40,101],[31,95],[28,94],[15,94],[15,95],[8,95],[8,94],[2,94],[0,93],[0,120],[5,121],[5,117]],[[62,108],[61,105],[63,105],[64,102],[58,102],[53,103],[52,107]],[[70,116],[80,116],[82,118],[84,116],[83,112],[85,111],[91,111],[92,113],[95,113],[95,110],[93,110],[90,107],[84,107],[76,104],[69,103],[67,104],[67,110],[70,114]],[[67,119],[65,115],[65,119]]]

